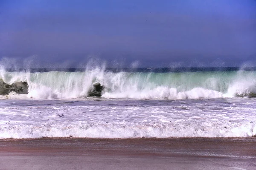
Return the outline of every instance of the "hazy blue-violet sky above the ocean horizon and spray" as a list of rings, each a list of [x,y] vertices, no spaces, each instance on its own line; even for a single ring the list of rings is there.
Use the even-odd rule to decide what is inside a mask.
[[[256,0],[0,0],[0,59],[256,66]]]

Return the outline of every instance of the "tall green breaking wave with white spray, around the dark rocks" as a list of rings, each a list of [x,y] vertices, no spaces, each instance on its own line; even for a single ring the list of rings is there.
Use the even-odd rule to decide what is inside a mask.
[[[35,99],[86,97],[96,82],[104,85],[104,98],[198,99],[244,97],[256,94],[256,71],[213,71],[180,73],[86,71],[8,72],[0,71],[4,82],[26,81]]]

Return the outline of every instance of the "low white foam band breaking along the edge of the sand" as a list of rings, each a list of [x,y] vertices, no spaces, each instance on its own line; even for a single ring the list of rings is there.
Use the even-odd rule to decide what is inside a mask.
[[[256,134],[255,124],[207,127],[174,124],[52,124],[2,127],[0,139],[41,137],[141,138],[141,137],[248,137]],[[231,128],[231,129],[229,129]]]

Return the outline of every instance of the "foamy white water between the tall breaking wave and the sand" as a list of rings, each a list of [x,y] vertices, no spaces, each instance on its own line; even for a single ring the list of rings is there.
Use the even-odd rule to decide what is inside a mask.
[[[224,100],[224,99],[222,99]],[[8,101],[6,101],[8,102]],[[209,100],[127,106],[129,101],[94,101],[94,105],[29,105],[0,107],[0,138],[89,137],[248,137],[256,135],[256,108],[248,101],[229,107]],[[252,105],[255,101],[249,101]],[[91,103],[91,102],[90,102]],[[147,104],[148,103],[148,104]],[[19,104],[17,104],[19,105]],[[235,106],[239,105],[239,106]]]

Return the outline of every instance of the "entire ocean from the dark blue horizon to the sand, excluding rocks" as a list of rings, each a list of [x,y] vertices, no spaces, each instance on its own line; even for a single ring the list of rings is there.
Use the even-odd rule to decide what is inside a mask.
[[[2,69],[0,139],[256,136],[255,68]],[[101,97],[88,96],[95,83]]]

